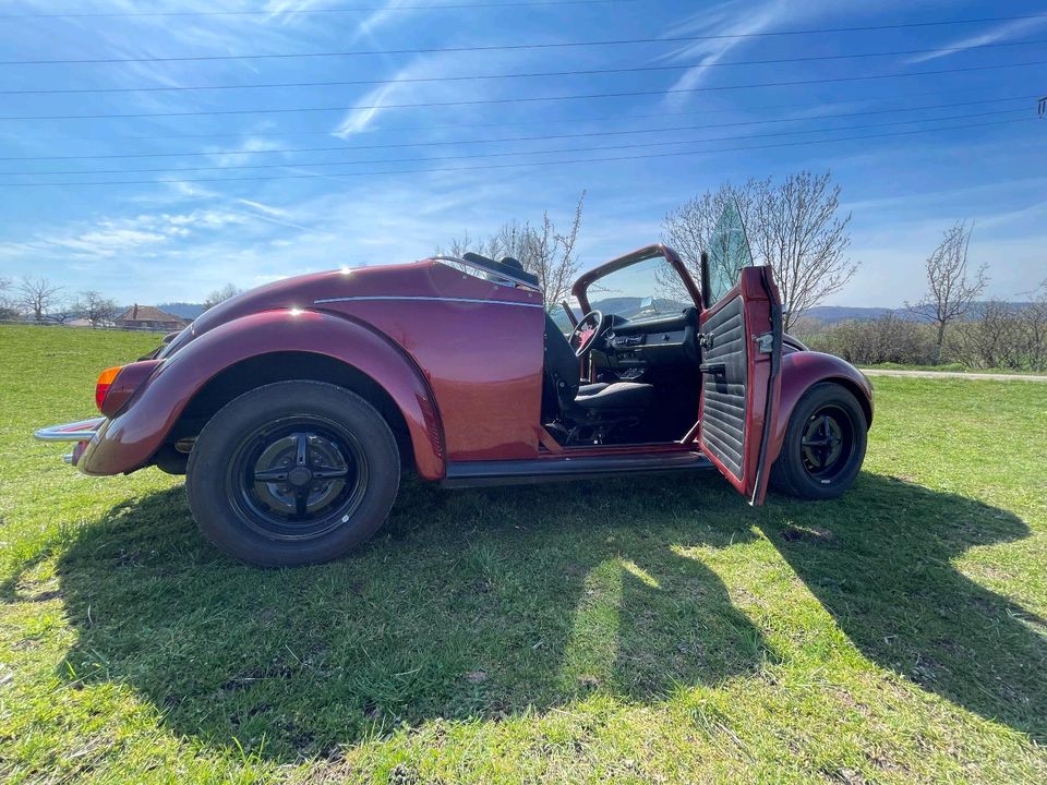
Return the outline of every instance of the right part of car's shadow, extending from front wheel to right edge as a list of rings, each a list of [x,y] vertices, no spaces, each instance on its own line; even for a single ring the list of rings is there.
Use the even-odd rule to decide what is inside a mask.
[[[761,517],[763,533],[865,656],[959,706],[1047,739],[1047,621],[952,564],[973,547],[1027,536],[1024,521],[868,474],[834,503],[771,499]],[[985,582],[1021,578],[987,563],[965,569]]]

